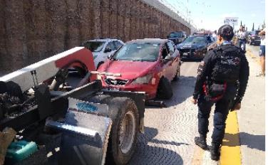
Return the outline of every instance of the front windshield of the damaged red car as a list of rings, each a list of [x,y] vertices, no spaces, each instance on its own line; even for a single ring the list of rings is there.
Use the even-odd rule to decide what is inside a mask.
[[[159,50],[160,43],[127,43],[113,55],[113,59],[156,61],[158,60]]]

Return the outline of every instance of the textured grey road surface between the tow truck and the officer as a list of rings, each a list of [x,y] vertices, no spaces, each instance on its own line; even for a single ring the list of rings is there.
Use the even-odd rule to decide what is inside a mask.
[[[195,87],[197,62],[181,65],[181,77],[172,82],[168,107],[145,109],[145,134],[130,164],[192,164],[197,134],[197,106],[190,102]]]

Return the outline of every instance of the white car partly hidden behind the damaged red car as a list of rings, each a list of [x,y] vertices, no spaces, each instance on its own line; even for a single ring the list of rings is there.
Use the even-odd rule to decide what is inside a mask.
[[[110,38],[95,39],[82,43],[82,46],[88,48],[93,53],[95,67],[97,69],[107,60],[108,55],[112,55],[123,45],[123,41]]]

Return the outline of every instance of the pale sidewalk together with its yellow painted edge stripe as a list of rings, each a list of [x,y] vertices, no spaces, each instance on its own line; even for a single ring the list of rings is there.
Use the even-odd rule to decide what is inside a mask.
[[[247,46],[249,82],[239,111],[230,112],[220,164],[265,164],[265,81],[259,73],[259,47]]]

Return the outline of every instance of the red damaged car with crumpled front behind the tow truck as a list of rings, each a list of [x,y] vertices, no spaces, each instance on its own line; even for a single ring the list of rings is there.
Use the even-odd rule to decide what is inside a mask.
[[[147,100],[170,99],[170,81],[180,77],[180,53],[167,39],[128,41],[98,71],[118,73],[98,75],[103,87],[109,90],[145,92]]]

